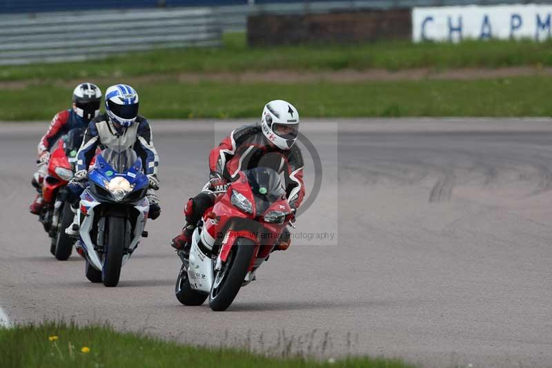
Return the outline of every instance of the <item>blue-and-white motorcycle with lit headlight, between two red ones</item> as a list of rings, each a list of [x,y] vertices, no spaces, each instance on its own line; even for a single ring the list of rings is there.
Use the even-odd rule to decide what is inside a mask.
[[[79,205],[77,252],[86,259],[86,278],[106,287],[119,283],[121,267],[137,248],[150,204],[149,181],[131,148],[107,148],[95,158]]]

